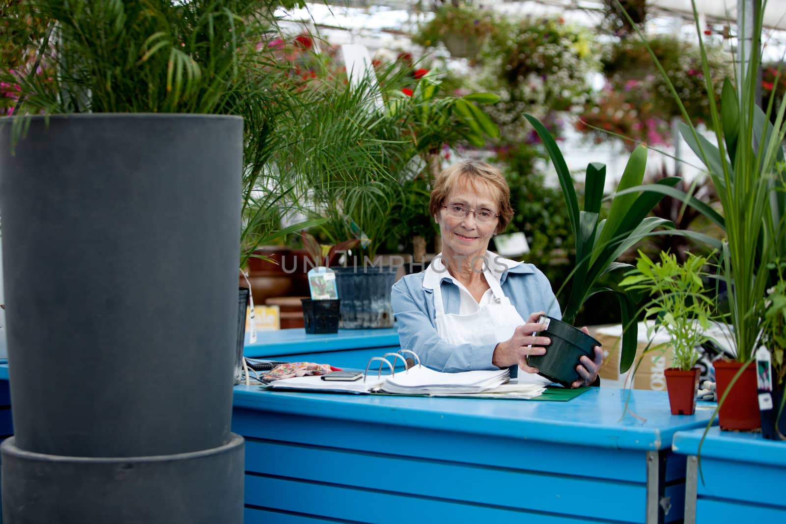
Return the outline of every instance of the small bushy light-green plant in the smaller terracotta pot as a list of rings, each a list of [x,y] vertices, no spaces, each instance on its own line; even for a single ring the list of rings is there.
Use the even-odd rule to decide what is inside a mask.
[[[680,264],[673,253],[660,252],[659,262],[652,262],[639,251],[636,269],[626,273],[619,283],[628,291],[644,291],[652,299],[644,306],[648,339],[663,330],[669,335],[671,367],[665,371],[672,415],[692,415],[696,410],[696,389],[700,368],[694,367],[700,354],[696,350],[707,341],[714,302],[703,294],[703,267],[708,258],[686,253]],[[652,350],[663,350],[655,346]]]

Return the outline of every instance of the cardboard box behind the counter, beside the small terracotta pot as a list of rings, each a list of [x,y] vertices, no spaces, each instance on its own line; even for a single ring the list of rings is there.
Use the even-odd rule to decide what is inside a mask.
[[[638,365],[634,375],[634,390],[666,390],[666,376],[663,372],[671,365],[671,348],[668,346],[668,335],[655,335],[655,339],[653,339],[650,345],[650,350],[647,354],[644,354],[648,344],[647,326],[640,323],[638,325],[638,343],[634,365],[631,366],[631,372],[620,376],[619,357],[622,349],[620,343],[620,337],[623,334],[622,324],[596,326],[589,328],[589,332],[603,347],[603,365],[601,365],[601,371],[599,372],[601,384],[605,380],[607,382],[619,383],[620,387],[630,385],[630,374],[636,363],[641,359],[641,364]],[[652,350],[655,346],[660,347]],[[644,357],[642,357],[642,354],[644,354]]]

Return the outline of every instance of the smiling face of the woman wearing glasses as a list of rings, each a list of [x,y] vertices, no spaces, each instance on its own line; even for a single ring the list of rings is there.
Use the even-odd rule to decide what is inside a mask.
[[[443,206],[462,206],[474,210],[488,210],[492,214],[499,213],[497,192],[488,185],[459,185],[450,190],[443,201]],[[439,231],[443,238],[443,254],[445,255],[483,255],[486,251],[494,230],[497,229],[499,218],[490,222],[478,222],[475,214],[468,213],[463,218],[451,216],[445,207],[441,207],[436,217]]]

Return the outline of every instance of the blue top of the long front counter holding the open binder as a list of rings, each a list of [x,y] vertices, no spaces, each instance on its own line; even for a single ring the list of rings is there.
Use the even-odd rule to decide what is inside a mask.
[[[696,415],[670,414],[665,391],[593,387],[571,401],[513,401],[467,398],[397,397],[296,393],[236,386],[236,408],[332,416],[340,420],[463,431],[511,438],[538,439],[612,449],[667,449],[676,431],[704,427],[714,405],[700,405]],[[637,418],[641,417],[641,418]]]

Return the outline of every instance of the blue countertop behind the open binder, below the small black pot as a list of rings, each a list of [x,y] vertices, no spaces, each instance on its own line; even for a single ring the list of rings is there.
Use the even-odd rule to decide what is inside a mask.
[[[399,345],[397,328],[381,329],[340,329],[329,335],[309,335],[303,328],[260,331],[256,343],[246,344],[243,354],[246,357],[267,357],[270,355],[297,352],[354,350],[366,347],[389,347]]]

